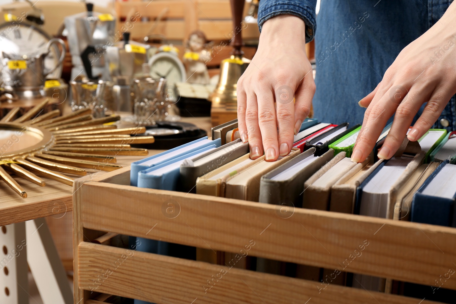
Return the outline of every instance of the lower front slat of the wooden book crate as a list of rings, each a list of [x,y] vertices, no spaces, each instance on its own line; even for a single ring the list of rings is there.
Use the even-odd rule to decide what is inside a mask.
[[[418,303],[414,298],[335,284],[320,290],[319,284],[313,281],[89,242],[81,242],[78,252],[80,288],[157,304],[303,304],[308,299],[314,304]],[[435,302],[423,300],[420,303]]]

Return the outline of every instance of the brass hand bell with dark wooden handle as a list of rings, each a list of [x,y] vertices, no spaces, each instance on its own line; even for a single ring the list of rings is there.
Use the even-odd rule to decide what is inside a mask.
[[[212,101],[212,108],[223,108],[226,106],[237,107],[237,96],[236,86],[244,73],[245,69],[249,65],[250,60],[242,57],[241,46],[241,20],[242,12],[244,10],[245,0],[230,0],[231,11],[233,15],[233,39],[231,45],[233,46],[233,52],[231,57],[224,59],[220,64],[220,79],[218,85],[209,96],[209,100]]]

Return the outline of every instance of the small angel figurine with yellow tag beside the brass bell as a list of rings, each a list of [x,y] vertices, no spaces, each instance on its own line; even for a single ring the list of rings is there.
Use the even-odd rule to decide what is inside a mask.
[[[212,59],[208,48],[206,36],[202,31],[194,31],[190,34],[187,41],[183,62],[187,67],[187,82],[209,83],[209,73],[206,63]]]

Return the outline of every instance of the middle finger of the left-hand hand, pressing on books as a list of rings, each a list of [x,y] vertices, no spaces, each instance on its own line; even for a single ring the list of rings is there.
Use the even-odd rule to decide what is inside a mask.
[[[256,94],[258,98],[258,124],[263,139],[264,159],[274,161],[279,157],[274,95],[272,89],[265,88]]]

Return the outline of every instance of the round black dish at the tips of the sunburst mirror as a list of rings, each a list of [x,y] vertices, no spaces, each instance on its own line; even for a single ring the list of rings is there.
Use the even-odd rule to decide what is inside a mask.
[[[199,129],[194,124],[182,122],[158,122],[153,126],[145,126],[145,128],[145,133],[135,136],[152,135],[155,138],[155,142],[153,144],[132,144],[132,147],[167,150],[207,136],[205,130]]]

